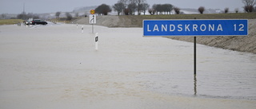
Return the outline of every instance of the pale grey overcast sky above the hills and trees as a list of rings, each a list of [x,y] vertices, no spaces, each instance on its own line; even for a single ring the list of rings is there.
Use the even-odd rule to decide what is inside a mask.
[[[113,6],[118,0],[0,0],[0,14],[20,14],[25,3],[26,13],[42,14],[50,12],[69,12],[76,7],[99,6],[102,3]],[[194,8],[205,6],[206,9],[221,9],[226,7],[230,11],[238,8],[242,11],[242,0],[146,0],[150,4],[170,3],[179,8]]]

